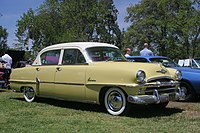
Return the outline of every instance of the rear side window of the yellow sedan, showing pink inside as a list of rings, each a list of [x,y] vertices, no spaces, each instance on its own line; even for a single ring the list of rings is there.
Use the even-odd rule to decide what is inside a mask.
[[[40,56],[42,65],[57,65],[60,57],[60,50],[51,50]]]

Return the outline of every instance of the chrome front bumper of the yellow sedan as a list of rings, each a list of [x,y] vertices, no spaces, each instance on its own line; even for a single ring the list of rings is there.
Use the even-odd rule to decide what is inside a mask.
[[[153,103],[162,103],[168,101],[179,100],[182,97],[180,89],[178,92],[164,93],[159,94],[158,90],[153,90],[153,95],[137,95],[137,96],[128,96],[128,102],[134,104],[153,104]]]

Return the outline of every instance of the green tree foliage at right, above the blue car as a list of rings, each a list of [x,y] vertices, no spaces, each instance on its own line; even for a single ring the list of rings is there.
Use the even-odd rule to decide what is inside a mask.
[[[199,11],[198,0],[141,0],[127,8],[124,43],[140,50],[149,42],[157,55],[171,58],[200,56]]]

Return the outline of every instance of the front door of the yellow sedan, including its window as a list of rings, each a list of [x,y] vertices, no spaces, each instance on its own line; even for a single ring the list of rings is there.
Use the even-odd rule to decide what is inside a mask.
[[[85,72],[88,65],[79,49],[64,49],[55,74],[55,89],[66,99],[85,99]]]

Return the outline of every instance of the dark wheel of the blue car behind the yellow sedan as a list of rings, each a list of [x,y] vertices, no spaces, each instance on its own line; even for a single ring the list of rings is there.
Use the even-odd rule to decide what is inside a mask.
[[[184,92],[184,96],[181,98],[183,101],[193,101],[196,98],[196,94],[191,87],[190,84],[186,82],[181,82],[180,89],[182,92]]]

